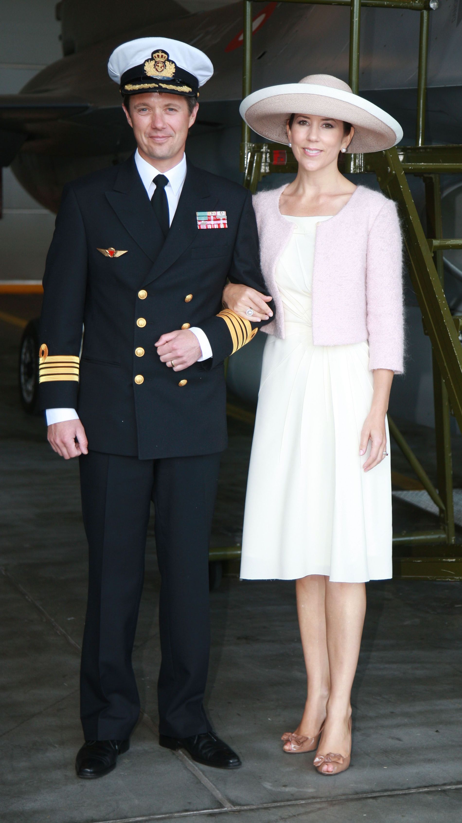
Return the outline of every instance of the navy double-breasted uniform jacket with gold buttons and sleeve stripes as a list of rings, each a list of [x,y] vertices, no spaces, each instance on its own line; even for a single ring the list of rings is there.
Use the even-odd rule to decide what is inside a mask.
[[[198,228],[197,212],[225,212],[226,227]],[[188,162],[164,239],[133,156],[67,184],[44,274],[41,407],[76,408],[95,451],[224,449],[224,360],[257,328],[220,314],[227,278],[266,292],[242,186]],[[206,332],[213,358],[174,372],[155,342],[187,324]]]

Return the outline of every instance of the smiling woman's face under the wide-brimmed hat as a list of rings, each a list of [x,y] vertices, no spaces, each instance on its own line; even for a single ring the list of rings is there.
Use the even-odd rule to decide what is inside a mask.
[[[351,142],[354,129],[352,127],[349,134],[344,134],[343,120],[317,114],[296,114],[292,128],[288,123],[287,133],[298,164],[307,171],[317,171],[330,163],[337,164],[339,151]]]

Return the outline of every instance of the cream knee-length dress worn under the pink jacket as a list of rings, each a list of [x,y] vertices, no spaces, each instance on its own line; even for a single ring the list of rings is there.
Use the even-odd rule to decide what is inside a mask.
[[[285,339],[268,335],[263,355],[241,578],[390,578],[390,458],[363,472],[370,445],[359,455],[372,402],[369,346],[313,345],[316,223],[329,217],[286,219],[295,226],[275,271]],[[388,425],[386,433],[389,444]]]

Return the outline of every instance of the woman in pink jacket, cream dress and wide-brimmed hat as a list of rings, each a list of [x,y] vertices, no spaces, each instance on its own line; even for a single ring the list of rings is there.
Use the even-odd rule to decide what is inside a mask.
[[[276,313],[261,329],[241,577],[296,580],[307,700],[284,751],[317,749],[316,769],[332,775],[350,762],[365,582],[391,577],[386,410],[403,370],[395,204],[346,179],[338,158],[389,148],[402,131],[327,75],[254,92],[241,114],[298,160],[293,183],[254,198]],[[224,304],[253,320],[267,318],[267,300],[224,290]]]

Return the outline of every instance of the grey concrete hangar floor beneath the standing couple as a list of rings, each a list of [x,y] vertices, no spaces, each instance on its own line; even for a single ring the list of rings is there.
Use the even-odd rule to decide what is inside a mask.
[[[43,422],[19,407],[19,335],[19,328],[0,323],[2,823],[460,821],[462,584],[368,584],[353,687],[352,767],[325,780],[313,770],[312,756],[285,755],[279,739],[297,725],[305,690],[293,584],[225,578],[211,594],[206,700],[243,768],[221,772],[157,744],[159,576],[152,523],[134,654],[145,714],[112,774],[95,783],[76,779],[86,589],[77,466],[49,450]],[[215,545],[229,545],[242,517],[250,433],[231,421],[230,435]],[[429,435],[414,437],[432,476]],[[395,454],[394,460],[396,471],[406,471]],[[459,474],[461,465],[458,459]],[[435,523],[432,514],[401,500],[396,520],[402,528]]]

